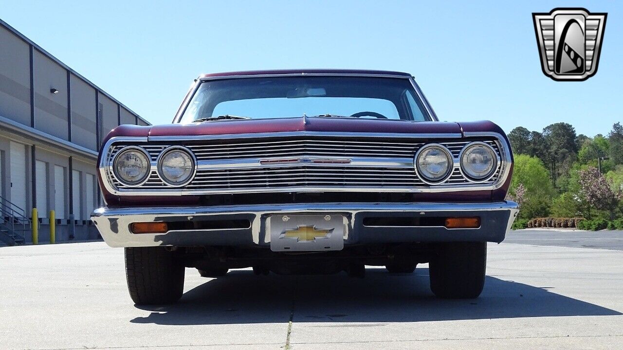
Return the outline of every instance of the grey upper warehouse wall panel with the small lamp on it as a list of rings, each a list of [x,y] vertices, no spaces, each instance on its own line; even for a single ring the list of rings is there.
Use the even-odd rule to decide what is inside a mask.
[[[34,52],[35,128],[69,140],[67,130],[67,70]],[[57,93],[50,90],[55,89]]]

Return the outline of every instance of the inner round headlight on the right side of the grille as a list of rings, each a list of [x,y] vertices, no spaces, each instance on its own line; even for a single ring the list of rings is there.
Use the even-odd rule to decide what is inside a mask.
[[[424,182],[441,182],[452,172],[452,154],[440,144],[427,144],[417,151],[416,171]]]

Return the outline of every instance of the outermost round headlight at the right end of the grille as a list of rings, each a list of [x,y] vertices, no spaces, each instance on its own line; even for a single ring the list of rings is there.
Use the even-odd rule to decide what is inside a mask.
[[[487,180],[498,164],[497,155],[491,146],[483,142],[468,144],[460,155],[461,170],[474,181]]]

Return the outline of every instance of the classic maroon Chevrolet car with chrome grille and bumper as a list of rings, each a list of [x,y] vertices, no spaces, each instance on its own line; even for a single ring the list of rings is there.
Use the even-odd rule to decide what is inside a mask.
[[[137,304],[172,303],[204,277],[412,273],[475,298],[487,242],[518,207],[513,156],[490,121],[438,121],[407,73],[281,70],[202,75],[170,125],[122,125],[100,151],[107,207]]]

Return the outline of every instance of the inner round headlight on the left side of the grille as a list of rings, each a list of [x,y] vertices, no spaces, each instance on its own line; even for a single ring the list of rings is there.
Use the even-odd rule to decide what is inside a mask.
[[[170,186],[184,186],[191,181],[195,161],[188,149],[173,146],[165,149],[158,158],[158,175]]]

